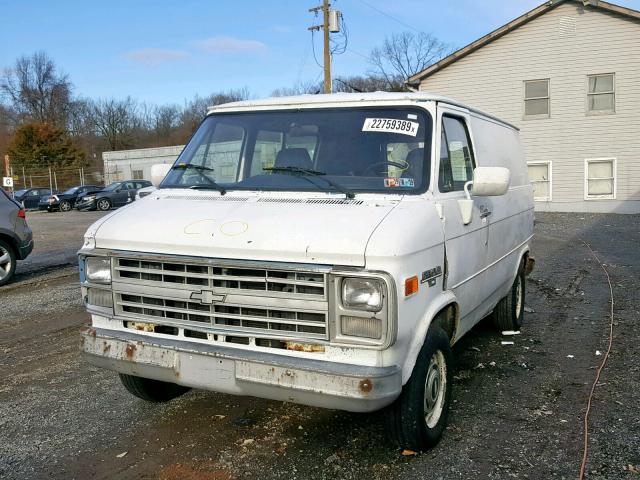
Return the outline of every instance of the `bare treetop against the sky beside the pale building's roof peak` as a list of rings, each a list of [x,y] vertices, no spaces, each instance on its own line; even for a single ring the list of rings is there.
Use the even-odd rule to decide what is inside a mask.
[[[437,62],[451,47],[426,33],[402,32],[386,37],[371,51],[369,61],[375,75],[382,77],[391,91],[406,90],[404,82]]]

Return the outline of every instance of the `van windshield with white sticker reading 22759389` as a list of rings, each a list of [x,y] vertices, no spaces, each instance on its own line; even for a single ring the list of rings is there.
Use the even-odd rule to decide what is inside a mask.
[[[213,114],[161,187],[415,194],[429,186],[430,145],[415,107]]]

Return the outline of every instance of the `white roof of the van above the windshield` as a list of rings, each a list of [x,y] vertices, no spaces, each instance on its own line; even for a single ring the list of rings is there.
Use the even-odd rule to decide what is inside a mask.
[[[243,100],[240,102],[223,103],[221,105],[215,105],[209,107],[207,114],[215,112],[228,112],[228,111],[241,111],[250,110],[253,108],[268,108],[268,107],[287,107],[294,105],[335,105],[337,103],[372,103],[372,102],[384,102],[393,103],[399,101],[412,101],[412,102],[443,102],[457,107],[466,108],[471,112],[482,115],[484,117],[491,118],[497,122],[502,123],[510,128],[519,130],[518,127],[512,125],[504,120],[497,118],[491,114],[485,113],[470,105],[466,105],[453,98],[444,97],[429,92],[371,92],[371,93],[332,93],[332,94],[317,94],[317,95],[295,95],[291,97],[269,97],[255,100]]]

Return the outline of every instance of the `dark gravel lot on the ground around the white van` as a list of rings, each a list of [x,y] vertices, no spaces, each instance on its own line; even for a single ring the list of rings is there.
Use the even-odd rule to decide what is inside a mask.
[[[71,266],[100,214],[29,214],[36,250],[0,288],[0,478],[576,478],[587,394],[588,478],[640,479],[640,216],[539,214],[515,345],[480,324],[454,348],[455,403],[432,451],[402,456],[381,415],[192,391],[151,405],[78,354]]]

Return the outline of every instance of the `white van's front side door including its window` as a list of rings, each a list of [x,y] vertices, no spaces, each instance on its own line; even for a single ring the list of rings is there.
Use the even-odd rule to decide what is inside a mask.
[[[442,205],[446,248],[445,288],[453,290],[460,308],[456,336],[467,332],[481,316],[479,306],[488,295],[485,269],[488,262],[488,223],[484,199],[474,198],[469,224],[462,221],[458,200],[464,199],[464,184],[473,180],[475,151],[468,111],[438,104],[436,148],[436,202]],[[472,197],[473,198],[473,197]]]

